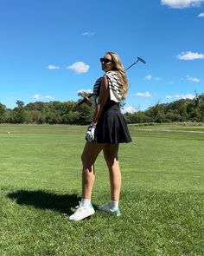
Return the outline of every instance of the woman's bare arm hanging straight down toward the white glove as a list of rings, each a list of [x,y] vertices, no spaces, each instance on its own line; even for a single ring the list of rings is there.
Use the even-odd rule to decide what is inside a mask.
[[[102,78],[101,86],[100,86],[100,93],[99,93],[99,102],[96,105],[95,112],[92,118],[92,124],[96,125],[99,121],[99,117],[103,111],[105,106],[105,102],[107,101],[109,96],[109,87],[108,87],[108,79],[107,76],[104,75]]]

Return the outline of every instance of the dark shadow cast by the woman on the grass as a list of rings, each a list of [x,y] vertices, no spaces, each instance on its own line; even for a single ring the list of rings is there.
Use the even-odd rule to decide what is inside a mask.
[[[53,210],[60,213],[72,214],[72,207],[79,205],[77,194],[53,194],[42,190],[18,190],[8,194],[18,205],[32,206],[42,210]]]

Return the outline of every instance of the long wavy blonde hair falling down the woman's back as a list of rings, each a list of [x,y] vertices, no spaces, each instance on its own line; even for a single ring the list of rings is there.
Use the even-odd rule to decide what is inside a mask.
[[[127,76],[125,74],[123,64],[122,64],[118,54],[116,54],[115,52],[108,51],[108,52],[106,52],[106,54],[109,54],[110,56],[112,56],[112,61],[114,64],[113,69],[118,71],[120,82],[123,86],[123,96],[125,96],[125,95],[127,95],[127,92],[128,92],[128,82],[127,82]]]

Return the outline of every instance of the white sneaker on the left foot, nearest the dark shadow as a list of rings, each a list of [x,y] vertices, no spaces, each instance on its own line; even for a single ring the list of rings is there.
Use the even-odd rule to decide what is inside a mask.
[[[82,207],[81,202],[80,202],[80,206],[76,207],[75,213],[73,213],[71,216],[69,216],[69,220],[71,220],[71,221],[83,220],[83,219],[91,216],[94,213],[95,213],[95,211],[91,204],[89,207]]]

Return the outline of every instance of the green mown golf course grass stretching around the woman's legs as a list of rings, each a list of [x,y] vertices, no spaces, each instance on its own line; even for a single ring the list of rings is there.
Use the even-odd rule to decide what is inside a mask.
[[[0,125],[0,255],[204,255],[204,127],[130,130],[122,216],[72,223],[86,127]],[[109,200],[102,154],[95,167],[94,207]]]

